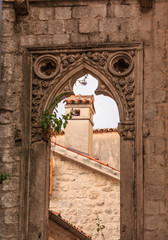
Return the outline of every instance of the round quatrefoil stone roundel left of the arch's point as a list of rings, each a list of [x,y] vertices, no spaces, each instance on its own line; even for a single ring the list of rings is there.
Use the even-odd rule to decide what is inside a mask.
[[[54,78],[59,72],[57,59],[53,55],[43,55],[36,59],[34,72],[41,79]]]

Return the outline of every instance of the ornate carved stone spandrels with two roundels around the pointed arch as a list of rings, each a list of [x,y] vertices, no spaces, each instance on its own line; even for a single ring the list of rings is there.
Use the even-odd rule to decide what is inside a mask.
[[[35,132],[40,127],[40,114],[53,86],[58,85],[59,91],[62,92],[72,92],[74,80],[72,80],[73,77],[72,79],[69,78],[70,72],[75,72],[75,69],[80,68],[82,64],[86,64],[85,67],[90,66],[92,69],[95,69],[97,73],[101,73],[102,76],[105,77],[106,81],[99,81],[99,86],[96,90],[97,94],[104,94],[116,100],[115,92],[117,93],[122,102],[124,121],[129,122],[129,124],[122,123],[123,130],[120,131],[121,135],[122,137],[133,138],[135,116],[133,58],[135,55],[135,50],[125,52],[115,52],[114,50],[90,50],[88,52],[86,50],[77,50],[76,52],[69,52],[67,50],[67,52],[55,51],[52,52],[52,55],[33,55],[32,136],[34,141],[42,137],[39,130],[37,134],[35,134]],[[117,72],[115,68],[113,69],[112,64],[117,65],[120,59],[123,59],[125,63],[123,65],[123,71]],[[66,75],[68,76],[66,82],[62,82],[62,79]],[[36,76],[38,76],[38,78]],[[97,75],[97,77],[99,78],[99,75]],[[111,91],[112,88],[115,89],[114,92]]]

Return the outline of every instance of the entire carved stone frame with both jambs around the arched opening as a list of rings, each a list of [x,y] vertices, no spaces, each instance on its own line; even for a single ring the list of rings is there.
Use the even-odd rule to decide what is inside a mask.
[[[118,70],[121,59],[125,67]],[[112,97],[120,114],[120,239],[143,240],[143,44],[32,48],[25,51],[24,66],[24,239],[48,239],[50,146],[40,116],[58,94],[72,93],[75,81],[89,73],[99,82],[96,94]]]

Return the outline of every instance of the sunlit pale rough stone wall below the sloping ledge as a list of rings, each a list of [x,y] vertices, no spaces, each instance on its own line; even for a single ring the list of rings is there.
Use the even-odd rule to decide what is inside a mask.
[[[102,173],[52,152],[53,176],[49,208],[59,212],[70,223],[93,240],[97,233],[96,212],[105,225],[106,240],[120,238],[120,182]]]

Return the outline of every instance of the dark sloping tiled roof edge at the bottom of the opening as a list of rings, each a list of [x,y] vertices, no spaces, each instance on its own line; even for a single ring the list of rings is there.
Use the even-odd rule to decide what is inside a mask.
[[[81,240],[90,240],[92,239],[90,236],[88,236],[86,233],[84,233],[82,230],[80,230],[78,227],[74,226],[67,220],[61,217],[60,213],[54,212],[52,210],[49,210],[49,217],[53,221],[56,220],[56,223],[60,226],[64,227],[67,231],[71,232],[75,236],[77,236]],[[53,218],[54,217],[54,218]]]

